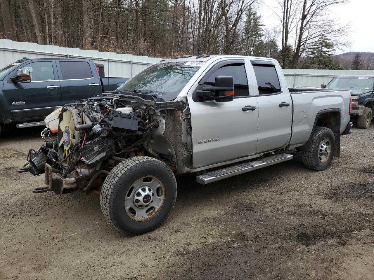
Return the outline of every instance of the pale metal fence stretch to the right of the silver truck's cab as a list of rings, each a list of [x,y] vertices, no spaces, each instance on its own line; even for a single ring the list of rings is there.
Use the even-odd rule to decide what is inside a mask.
[[[320,87],[340,75],[374,75],[374,70],[283,69],[288,87]]]

